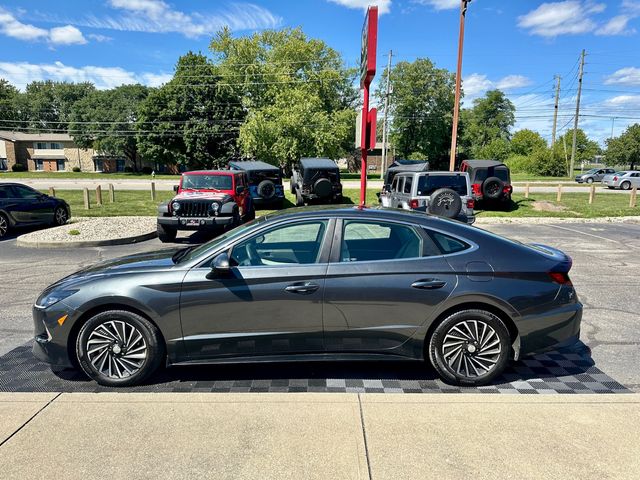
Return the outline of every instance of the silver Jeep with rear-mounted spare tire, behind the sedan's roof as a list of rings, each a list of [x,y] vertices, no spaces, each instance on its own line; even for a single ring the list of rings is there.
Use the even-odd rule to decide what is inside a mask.
[[[401,172],[394,177],[389,191],[380,195],[380,203],[468,224],[476,219],[471,181],[466,172]]]

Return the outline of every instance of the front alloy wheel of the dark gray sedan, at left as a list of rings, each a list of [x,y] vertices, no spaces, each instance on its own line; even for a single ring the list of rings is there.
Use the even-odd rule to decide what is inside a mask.
[[[147,359],[147,343],[142,333],[120,320],[98,325],[89,334],[86,348],[96,371],[114,379],[135,375]]]

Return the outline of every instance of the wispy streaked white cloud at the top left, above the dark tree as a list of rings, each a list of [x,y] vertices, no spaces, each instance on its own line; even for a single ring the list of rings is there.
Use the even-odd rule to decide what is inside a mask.
[[[275,28],[282,19],[252,3],[233,3],[215,14],[185,13],[162,0],[109,0],[120,16],[89,16],[75,25],[109,30],[180,33],[190,38],[211,35],[222,27],[234,31]]]

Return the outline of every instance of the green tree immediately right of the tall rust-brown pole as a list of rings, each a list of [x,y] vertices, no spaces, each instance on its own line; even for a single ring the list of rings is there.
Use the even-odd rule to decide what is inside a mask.
[[[480,157],[482,148],[497,139],[509,141],[515,125],[515,106],[500,90],[490,90],[461,114],[461,150]]]

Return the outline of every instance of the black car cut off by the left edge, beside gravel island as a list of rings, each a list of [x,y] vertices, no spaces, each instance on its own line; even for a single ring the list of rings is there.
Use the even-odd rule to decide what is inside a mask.
[[[21,183],[0,183],[0,238],[10,229],[64,225],[71,216],[67,202]]]

